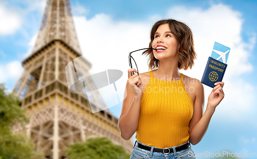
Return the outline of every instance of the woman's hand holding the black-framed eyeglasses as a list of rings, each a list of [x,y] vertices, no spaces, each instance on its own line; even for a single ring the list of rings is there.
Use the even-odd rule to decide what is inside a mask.
[[[136,74],[132,75],[132,72]],[[141,79],[137,74],[137,70],[135,68],[128,69],[128,84],[132,87],[136,96],[143,96],[143,84],[141,83]]]

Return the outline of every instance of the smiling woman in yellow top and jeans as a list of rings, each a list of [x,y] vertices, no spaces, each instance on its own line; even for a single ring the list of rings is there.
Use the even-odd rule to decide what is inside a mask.
[[[179,73],[195,59],[190,28],[175,20],[161,20],[151,30],[150,72],[128,69],[126,98],[118,122],[121,137],[136,143],[131,158],[195,158],[190,143],[204,137],[215,108],[224,98],[224,82],[215,83],[204,110],[199,80]],[[142,54],[142,55],[143,55]],[[157,68],[157,69],[154,69]],[[154,70],[153,70],[154,69]]]

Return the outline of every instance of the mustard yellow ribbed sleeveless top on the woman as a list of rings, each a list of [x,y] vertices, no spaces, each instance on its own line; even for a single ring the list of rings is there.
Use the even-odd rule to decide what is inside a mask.
[[[183,74],[178,81],[153,77],[143,92],[136,139],[158,148],[168,148],[189,140],[189,121],[194,103],[185,90]]]

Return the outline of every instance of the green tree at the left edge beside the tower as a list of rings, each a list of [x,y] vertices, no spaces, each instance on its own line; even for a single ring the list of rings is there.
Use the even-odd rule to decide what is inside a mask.
[[[29,121],[20,107],[19,99],[7,94],[4,84],[0,84],[0,159],[42,158],[42,153],[34,151],[32,140],[23,133],[13,133],[11,128],[17,122],[22,127]]]

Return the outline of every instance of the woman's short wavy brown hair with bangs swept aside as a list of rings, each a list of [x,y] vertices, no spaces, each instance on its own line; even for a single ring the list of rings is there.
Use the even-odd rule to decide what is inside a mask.
[[[176,20],[168,19],[156,22],[151,30],[150,38],[151,42],[149,47],[152,48],[152,42],[154,40],[154,34],[157,28],[162,24],[169,24],[172,34],[175,36],[178,42],[178,69],[187,70],[194,65],[194,59],[196,59],[196,53],[194,51],[194,40],[193,33],[191,29],[184,23],[178,22]],[[142,55],[149,55],[149,69],[154,69],[159,67],[159,60],[154,57],[153,49],[145,50]]]

